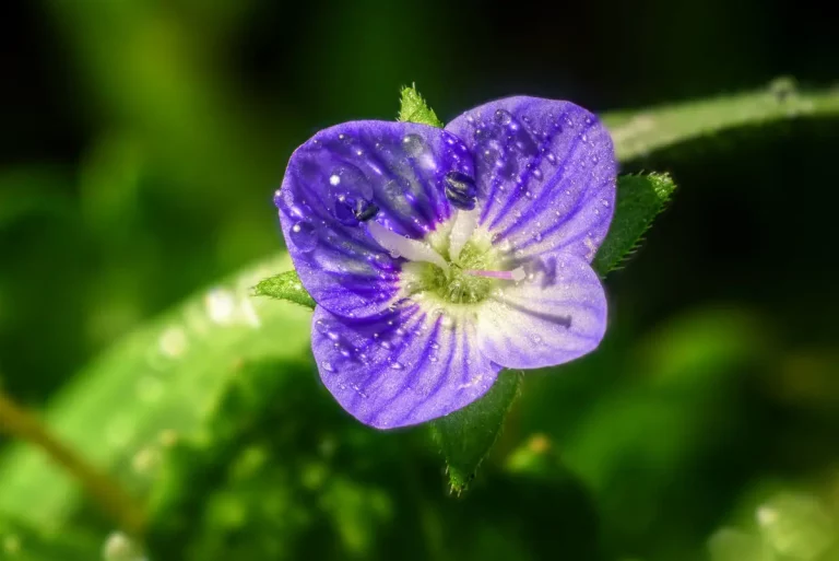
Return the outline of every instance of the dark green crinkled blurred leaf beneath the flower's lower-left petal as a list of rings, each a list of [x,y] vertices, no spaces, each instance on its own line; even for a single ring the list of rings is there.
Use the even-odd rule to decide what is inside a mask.
[[[391,496],[407,487],[399,463],[411,439],[345,414],[311,370],[304,360],[243,364],[201,430],[167,451],[150,509],[152,559],[379,557]]]

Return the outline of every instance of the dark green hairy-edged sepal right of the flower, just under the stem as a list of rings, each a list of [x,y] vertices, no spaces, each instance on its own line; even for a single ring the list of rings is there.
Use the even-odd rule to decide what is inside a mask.
[[[641,236],[664,210],[675,188],[667,174],[618,177],[615,217],[592,262],[601,277],[619,267],[638,247]]]

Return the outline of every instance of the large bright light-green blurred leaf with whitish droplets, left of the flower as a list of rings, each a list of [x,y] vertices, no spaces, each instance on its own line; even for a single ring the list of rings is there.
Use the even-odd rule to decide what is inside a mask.
[[[251,287],[291,267],[287,256],[241,271],[122,339],[52,400],[46,424],[135,493],[155,481],[166,443],[190,434],[245,360],[297,361],[309,311],[253,299]],[[0,512],[35,527],[61,524],[82,504],[74,481],[24,444],[0,457]]]

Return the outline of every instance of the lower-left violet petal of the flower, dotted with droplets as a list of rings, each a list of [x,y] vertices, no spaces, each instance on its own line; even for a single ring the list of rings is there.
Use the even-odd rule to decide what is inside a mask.
[[[353,417],[377,429],[422,423],[483,396],[500,367],[482,357],[469,322],[405,301],[377,318],[315,309],[311,348],[323,384]]]

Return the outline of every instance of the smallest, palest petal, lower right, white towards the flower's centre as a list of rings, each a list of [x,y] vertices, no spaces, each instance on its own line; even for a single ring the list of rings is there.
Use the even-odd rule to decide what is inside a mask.
[[[478,306],[477,346],[508,369],[539,369],[594,350],[606,329],[598,274],[574,254],[545,255],[524,281]]]

